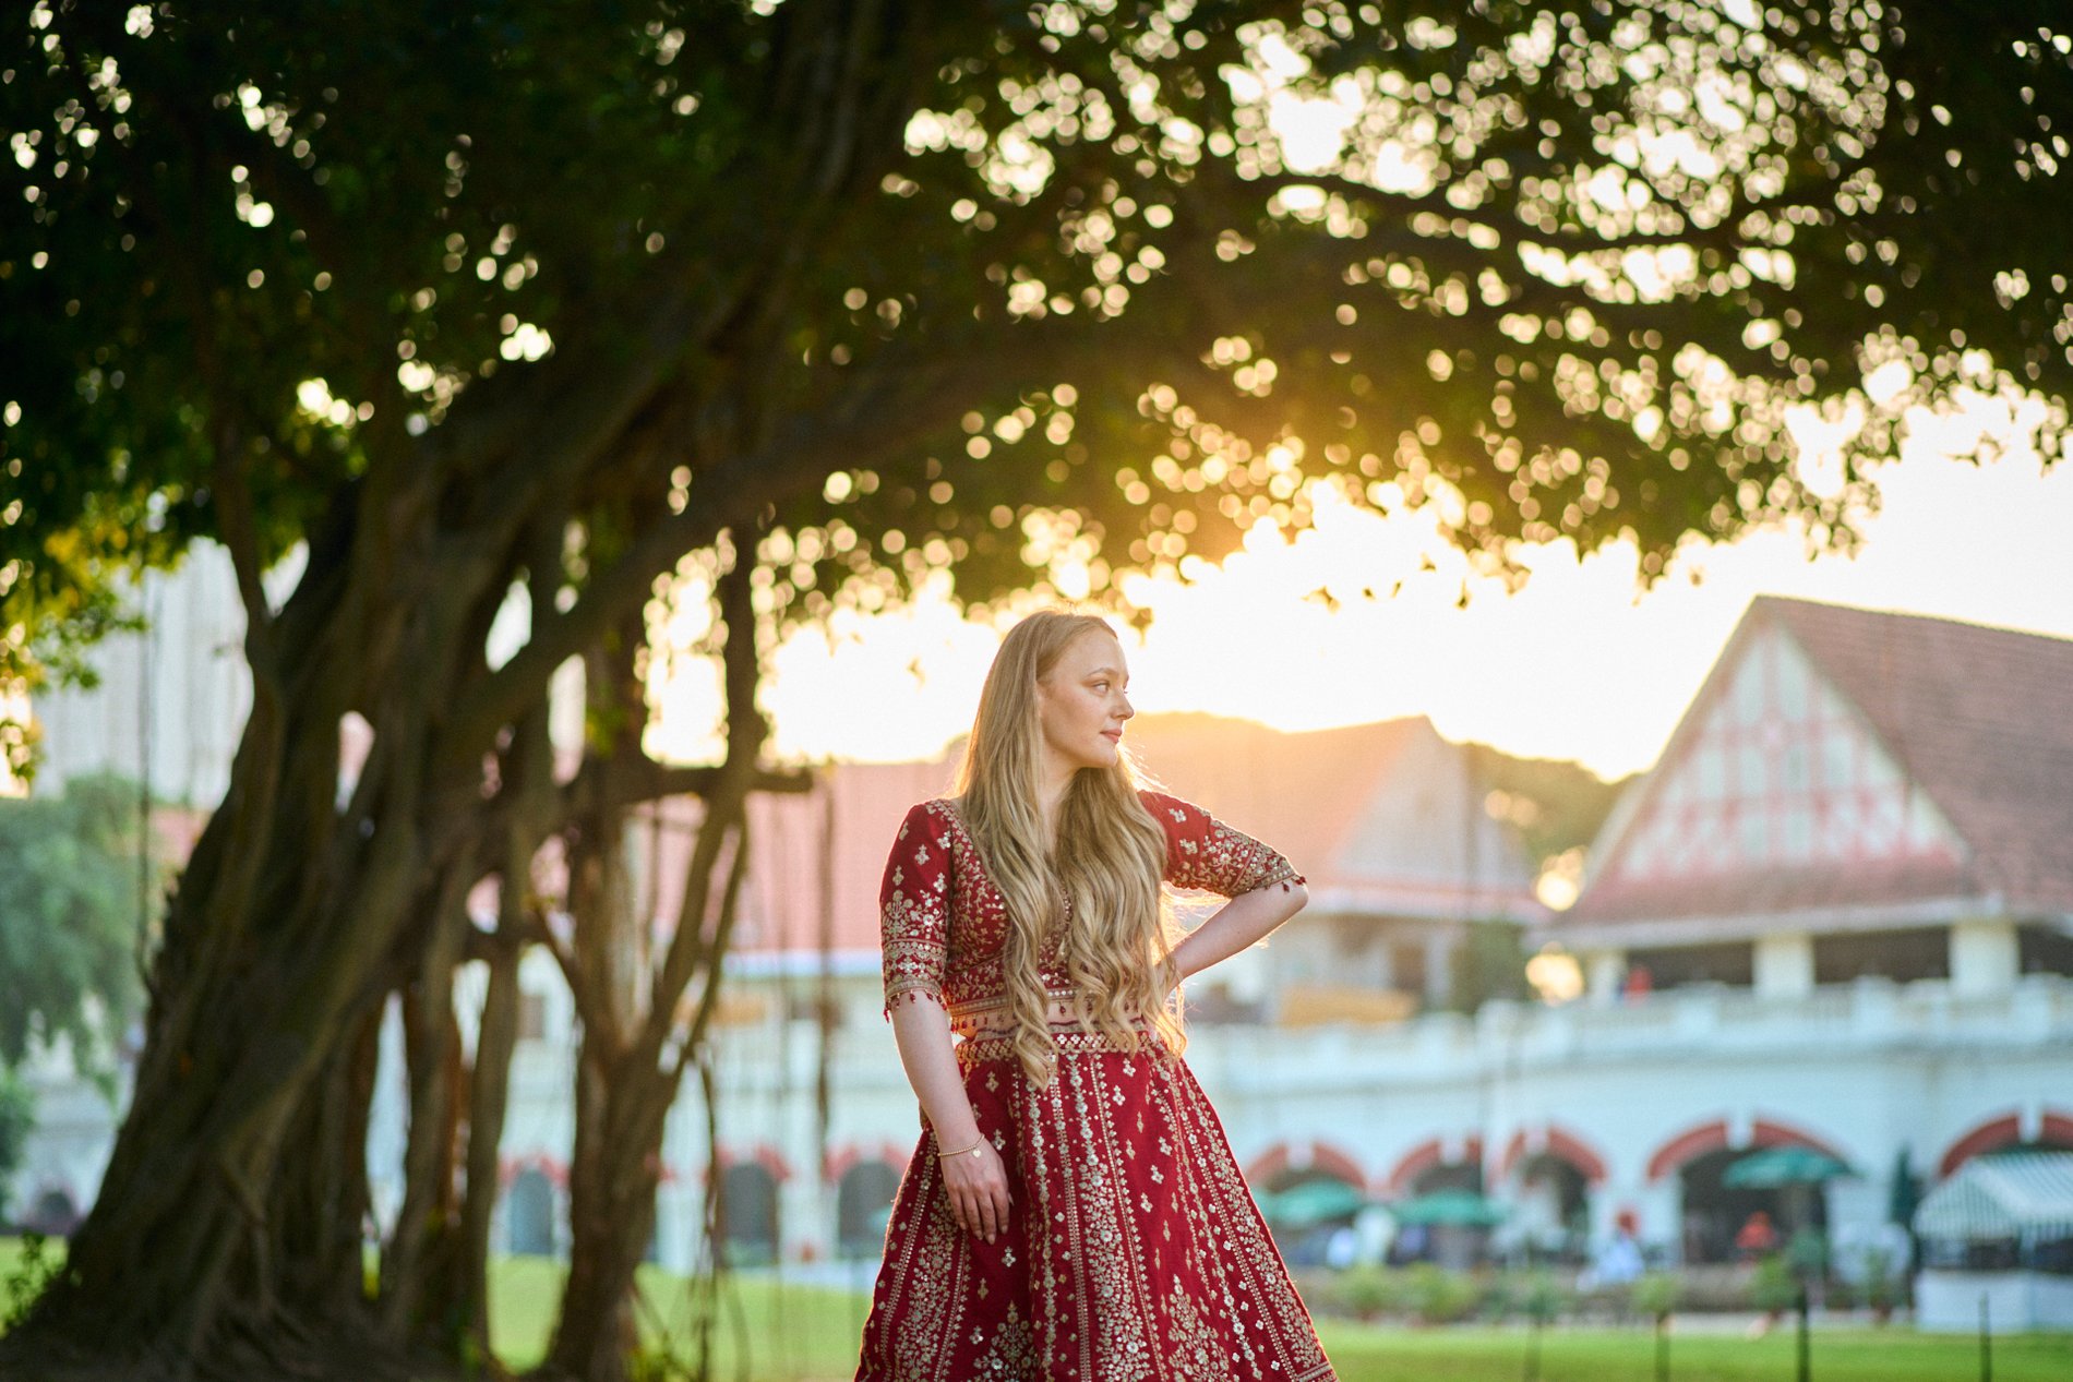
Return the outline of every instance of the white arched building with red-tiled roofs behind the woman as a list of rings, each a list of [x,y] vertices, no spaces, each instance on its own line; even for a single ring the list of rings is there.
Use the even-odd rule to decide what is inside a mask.
[[[1262,1021],[1198,1019],[1190,1046],[1256,1185],[1329,1175],[1391,1200],[1468,1185],[1513,1206],[1513,1241],[1573,1251],[1625,1222],[1665,1260],[1716,1262],[1756,1210],[1891,1245],[1915,1185],[1998,1148],[2073,1148],[2073,642],[1756,601],[1607,823],[1578,908],[1540,928],[1586,961],[1586,1001],[1474,1017],[1397,1021],[1389,1003],[1341,995],[1316,1021],[1289,1003],[1318,978],[1370,997],[1389,984],[1362,968],[1360,930],[1401,922],[1387,916],[1414,891],[1399,864],[1443,897],[1428,924],[1520,914],[1520,874],[1464,870],[1497,850],[1432,841],[1461,820],[1432,796],[1445,752],[1412,777],[1387,771],[1403,760],[1389,744],[1426,731],[1262,748],[1269,731],[1229,729],[1256,742],[1219,752],[1213,725],[1182,729],[1167,744],[1188,752],[1161,754],[1146,723],[1153,765],[1281,843],[1316,899],[1227,978],[1204,976],[1260,999]],[[788,1258],[856,1241],[837,1231],[842,1177],[852,1200],[883,1198],[916,1135],[856,908],[875,895],[879,841],[943,771],[883,773],[908,777],[858,794],[835,831],[844,1017],[825,1148],[800,1094],[819,1050],[802,1017],[815,932],[779,901],[802,891],[771,895],[738,970],[761,1003],[726,1040],[721,1125],[730,1187],[761,1208],[730,1218],[775,1225]],[[837,773],[837,800],[869,775]],[[817,876],[802,852],[786,860],[775,876]],[[1385,895],[1368,918],[1352,905]],[[1855,1175],[1797,1193],[1723,1185],[1743,1154],[1793,1144]]]

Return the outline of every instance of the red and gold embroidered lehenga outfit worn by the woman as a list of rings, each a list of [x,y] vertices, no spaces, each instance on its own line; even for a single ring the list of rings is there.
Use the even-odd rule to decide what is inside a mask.
[[[1144,804],[1167,883],[1225,897],[1300,883],[1285,858],[1196,806]],[[908,812],[881,893],[885,1011],[935,997],[970,1034],[1005,1007],[1005,910],[949,802]],[[1051,959],[1045,955],[1045,959]],[[1053,997],[1072,988],[1051,963]],[[1043,1090],[1005,1038],[964,1040],[981,1135],[1007,1167],[993,1243],[952,1218],[922,1121],[885,1229],[856,1382],[1335,1382],[1310,1316],[1188,1065],[1057,1034]]]

